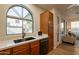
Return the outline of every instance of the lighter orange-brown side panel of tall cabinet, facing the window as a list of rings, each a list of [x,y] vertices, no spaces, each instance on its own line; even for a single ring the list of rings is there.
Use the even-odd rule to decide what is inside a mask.
[[[45,11],[40,14],[40,31],[48,34],[48,21],[49,21],[49,12]]]

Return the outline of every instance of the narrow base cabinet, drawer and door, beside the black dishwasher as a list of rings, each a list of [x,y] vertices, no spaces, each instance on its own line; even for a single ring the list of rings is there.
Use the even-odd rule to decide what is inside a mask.
[[[39,55],[39,40],[31,42],[31,55]]]

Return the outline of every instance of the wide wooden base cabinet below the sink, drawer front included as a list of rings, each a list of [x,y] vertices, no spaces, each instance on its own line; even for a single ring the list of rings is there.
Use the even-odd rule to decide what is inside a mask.
[[[30,54],[30,46],[28,43],[13,48],[13,55],[29,55],[29,54]]]

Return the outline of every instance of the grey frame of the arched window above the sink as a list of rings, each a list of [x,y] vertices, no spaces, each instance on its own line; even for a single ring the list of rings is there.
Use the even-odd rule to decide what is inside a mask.
[[[24,19],[24,18],[19,18],[19,17],[12,17],[12,16],[7,15],[7,14],[8,14],[8,11],[9,11],[11,8],[16,7],[16,6],[25,8],[25,9],[31,14],[32,20],[28,20],[28,19]],[[6,35],[19,35],[19,34],[22,34],[22,33],[15,33],[15,34],[8,34],[8,33],[7,33],[7,18],[13,18],[13,19],[31,21],[31,22],[32,22],[32,33],[34,32],[33,13],[32,13],[32,11],[31,11],[29,8],[27,8],[26,6],[24,6],[24,5],[22,5],[22,4],[20,4],[20,5],[12,5],[12,6],[10,6],[10,7],[8,8],[8,10],[7,10],[7,12],[6,12]],[[22,21],[22,32],[23,32],[23,21]],[[32,34],[32,33],[26,33],[26,34]]]

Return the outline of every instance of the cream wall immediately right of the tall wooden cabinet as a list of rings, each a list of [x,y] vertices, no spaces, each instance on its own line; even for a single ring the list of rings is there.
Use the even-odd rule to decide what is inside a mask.
[[[61,14],[61,12],[56,9],[56,8],[53,8],[50,10],[53,15],[54,15],[54,49],[62,42],[61,41],[61,30],[60,30],[60,27],[59,27],[59,40],[58,40],[58,36],[57,36],[57,33],[58,33],[58,30],[57,30],[57,27],[58,27],[58,23],[57,23],[57,16],[59,17],[59,24],[61,23],[61,20],[62,20],[62,17],[63,15]]]

